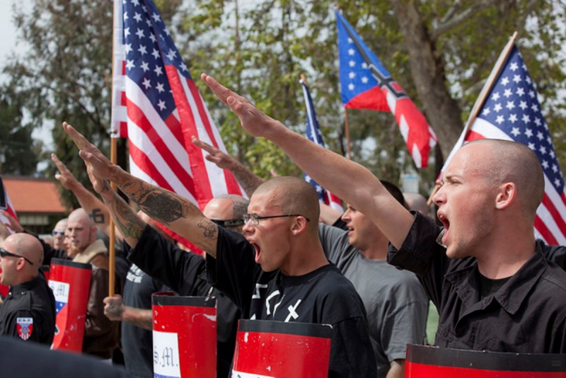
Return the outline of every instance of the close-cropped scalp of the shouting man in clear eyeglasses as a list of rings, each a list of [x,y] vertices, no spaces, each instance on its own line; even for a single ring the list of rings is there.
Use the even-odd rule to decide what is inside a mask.
[[[320,205],[313,185],[301,178],[280,176],[266,181],[255,194],[272,193],[272,203],[283,214],[301,214],[311,220],[311,227],[318,227]]]

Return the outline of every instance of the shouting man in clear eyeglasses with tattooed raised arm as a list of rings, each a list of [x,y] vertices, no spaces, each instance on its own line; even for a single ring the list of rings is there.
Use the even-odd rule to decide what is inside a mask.
[[[311,185],[289,177],[262,184],[243,216],[242,236],[204,217],[186,198],[115,166],[71,126],[64,130],[81,149],[95,190],[104,197],[112,181],[150,217],[206,251],[209,282],[244,318],[331,324],[328,376],[376,376],[364,304],[324,255]],[[139,237],[143,230],[138,224],[122,234]]]

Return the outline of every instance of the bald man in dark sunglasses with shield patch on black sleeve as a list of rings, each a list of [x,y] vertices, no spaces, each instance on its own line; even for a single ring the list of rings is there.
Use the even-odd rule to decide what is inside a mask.
[[[10,291],[0,305],[0,333],[51,345],[55,332],[55,298],[45,276],[40,242],[28,234],[12,234],[0,248],[1,283]]]

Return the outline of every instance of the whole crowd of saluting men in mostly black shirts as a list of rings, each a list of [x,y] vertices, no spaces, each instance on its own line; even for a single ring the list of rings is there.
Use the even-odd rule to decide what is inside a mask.
[[[64,123],[101,200],[52,157],[81,208],[57,223],[52,246],[13,224],[18,233],[0,248],[1,282],[10,286],[0,305],[3,335],[50,345],[54,297],[39,267],[57,257],[92,266],[83,353],[111,360],[121,350],[133,377],[153,376],[151,294],[161,291],[217,298],[218,377],[230,374],[238,319],[330,324],[329,377],[403,377],[407,345],[427,343],[429,300],[439,311],[437,346],[566,353],[566,273],[555,263],[563,264],[565,248],[535,240],[544,181],[529,148],[482,140],[458,151],[434,195],[439,227],[422,197],[404,197],[212,77],[202,79],[247,132],[275,142],[341,197],[345,212],[321,205],[299,178],[262,181],[194,139],[250,197],[218,197],[201,212],[115,166]],[[108,247],[97,236],[109,233],[110,217],[120,239],[112,297]],[[179,248],[155,222],[206,258]]]

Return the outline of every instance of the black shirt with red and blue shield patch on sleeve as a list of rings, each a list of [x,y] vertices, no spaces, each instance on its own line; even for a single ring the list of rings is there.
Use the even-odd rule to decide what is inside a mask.
[[[0,334],[51,345],[55,332],[55,298],[45,276],[10,287],[0,304]]]

